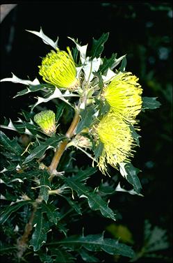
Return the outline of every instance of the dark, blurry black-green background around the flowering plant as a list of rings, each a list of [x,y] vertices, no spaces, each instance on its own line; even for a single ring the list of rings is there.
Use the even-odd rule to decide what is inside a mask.
[[[102,57],[110,57],[113,52],[117,52],[117,57],[127,54],[126,70],[140,78],[143,96],[158,97],[160,108],[140,114],[141,147],[133,159],[133,165],[142,170],[139,177],[145,197],[117,193],[111,198],[110,206],[122,214],[120,223],[133,234],[136,249],[142,244],[145,219],[167,230],[171,243],[172,4],[166,1],[19,3],[1,22],[1,78],[11,77],[13,72],[22,79],[27,76],[31,80],[35,76],[40,79],[40,57],[50,47],[25,31],[40,31],[40,27],[53,40],[59,36],[62,50],[67,45],[74,46],[67,36],[78,38],[83,45],[89,43],[90,49],[92,37],[97,39],[109,31]],[[1,83],[1,123],[3,116],[17,120],[21,109],[28,110],[31,96],[13,99],[21,89],[20,84]],[[83,218],[83,224],[99,233],[108,222],[103,219],[98,225],[97,218],[92,218],[92,222]],[[165,262],[169,262],[171,248],[164,256]],[[148,259],[148,262],[163,260]]]

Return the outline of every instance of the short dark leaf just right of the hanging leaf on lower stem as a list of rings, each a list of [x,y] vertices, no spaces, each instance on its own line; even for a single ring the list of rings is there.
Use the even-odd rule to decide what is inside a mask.
[[[54,223],[55,225],[58,223],[60,213],[57,211],[56,206],[42,202],[42,210],[47,214],[47,218],[51,223]]]

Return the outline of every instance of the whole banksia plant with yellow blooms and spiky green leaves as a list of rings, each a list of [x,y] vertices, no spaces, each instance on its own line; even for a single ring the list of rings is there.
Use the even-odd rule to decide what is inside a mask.
[[[1,125],[17,133],[11,140],[1,131],[1,253],[8,262],[102,262],[104,253],[133,261],[131,246],[103,233],[92,234],[88,225],[85,234],[81,219],[84,215],[88,223],[93,216],[99,221],[120,220],[116,207],[108,206],[110,195],[118,191],[119,175],[131,186],[122,191],[141,195],[139,170],[131,164],[135,146],[140,145],[136,118],[160,104],[156,98],[142,98],[145,87],[125,71],[125,56],[101,57],[108,33],[93,39],[89,53],[88,45],[70,38],[74,47],[72,52],[67,47],[67,53],[42,29],[30,32],[51,50],[40,62],[35,80],[14,74],[1,80],[26,85],[15,97],[40,94],[33,96],[35,103],[28,111],[21,110],[17,121],[6,119]],[[22,143],[24,136],[27,144]],[[96,177],[92,179],[96,174],[97,186]],[[103,174],[110,176],[104,176],[105,182]],[[117,181],[110,183],[112,174]]]

